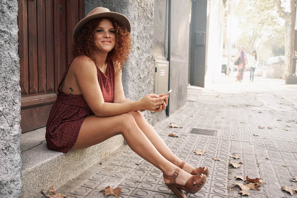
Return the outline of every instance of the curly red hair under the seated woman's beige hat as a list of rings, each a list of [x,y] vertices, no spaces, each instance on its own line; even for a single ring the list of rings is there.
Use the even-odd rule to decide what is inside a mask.
[[[115,29],[115,46],[108,53],[107,59],[117,62],[120,69],[122,69],[122,65],[124,61],[128,60],[128,55],[131,51],[131,37],[130,32],[113,18],[93,19],[81,28],[72,45],[72,55],[73,57],[85,55],[95,62],[95,57],[92,55],[97,50],[94,43],[94,34],[103,19],[110,20]]]

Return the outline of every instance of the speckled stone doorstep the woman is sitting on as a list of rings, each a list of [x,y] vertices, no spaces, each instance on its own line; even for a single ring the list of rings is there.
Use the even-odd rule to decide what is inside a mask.
[[[58,189],[122,146],[121,135],[78,151],[60,153],[46,147],[45,127],[21,135],[22,198],[43,197],[40,189]]]

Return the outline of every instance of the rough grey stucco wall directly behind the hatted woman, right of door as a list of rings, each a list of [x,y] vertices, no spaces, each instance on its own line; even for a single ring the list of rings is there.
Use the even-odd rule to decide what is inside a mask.
[[[131,23],[132,52],[123,67],[122,82],[125,96],[138,100],[154,92],[155,68],[153,64],[153,0],[86,0],[85,13],[95,7],[106,7],[110,11],[127,16]],[[145,112],[149,122],[159,114]]]

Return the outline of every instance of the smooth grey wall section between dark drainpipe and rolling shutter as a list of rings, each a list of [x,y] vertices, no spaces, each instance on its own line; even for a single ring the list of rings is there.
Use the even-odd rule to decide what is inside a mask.
[[[190,1],[171,1],[170,27],[170,109],[169,114],[187,101]]]

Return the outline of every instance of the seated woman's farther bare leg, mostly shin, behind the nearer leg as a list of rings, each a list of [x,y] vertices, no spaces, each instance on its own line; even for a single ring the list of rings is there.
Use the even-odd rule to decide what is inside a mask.
[[[172,164],[175,164],[175,166],[179,167],[182,163],[182,160],[179,159],[170,150],[170,148],[168,148],[168,146],[165,144],[165,142],[162,140],[159,134],[155,131],[155,129],[143,117],[142,113],[140,113],[139,111],[133,111],[129,113],[133,115],[138,127],[142,130],[142,132],[146,135],[150,142],[152,142],[152,144],[159,151],[159,153],[161,153],[161,155],[168,161],[170,161]],[[186,163],[183,167],[183,170],[186,170],[189,173],[191,173],[193,169],[194,167],[188,163]]]

